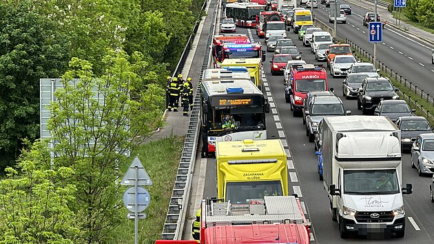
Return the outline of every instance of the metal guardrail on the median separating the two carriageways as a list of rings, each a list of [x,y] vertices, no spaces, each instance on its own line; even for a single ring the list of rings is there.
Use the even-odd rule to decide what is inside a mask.
[[[373,63],[373,55],[371,55],[369,52],[366,52],[365,50],[360,48],[360,46],[356,45],[355,43],[353,43],[353,41],[351,41],[349,39],[345,39],[345,42],[349,43],[349,45],[351,45],[351,48],[353,48],[353,50],[358,52],[363,57],[369,59],[369,61],[371,61],[371,63]],[[429,123],[431,123],[431,125],[434,125],[433,114],[431,114],[429,112],[429,110],[426,110],[422,105],[417,103],[417,99],[424,100],[424,101],[426,101],[426,103],[431,103],[431,106],[434,107],[433,97],[431,97],[428,93],[424,92],[424,90],[420,90],[419,88],[417,88],[417,85],[413,85],[413,82],[407,81],[407,79],[402,78],[402,75],[398,74],[397,72],[394,72],[393,70],[388,68],[387,65],[385,65],[381,61],[377,61],[375,66],[377,68],[380,68],[380,70],[382,70],[382,72],[388,74],[393,80],[404,85],[404,88],[409,88],[409,90],[411,90],[411,92],[414,92],[416,97],[413,97],[413,98],[411,96],[405,94],[404,92],[401,92],[401,91],[398,92],[398,94],[400,96],[402,96],[402,98],[405,101],[407,101],[407,103],[409,103],[411,108],[415,108],[417,110],[416,114],[424,116],[426,119],[428,119],[428,121],[429,121]]]

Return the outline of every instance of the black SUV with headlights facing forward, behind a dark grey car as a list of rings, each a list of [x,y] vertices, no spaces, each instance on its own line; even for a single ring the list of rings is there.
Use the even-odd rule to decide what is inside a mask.
[[[386,77],[366,77],[357,94],[357,108],[362,110],[363,114],[368,114],[375,110],[382,100],[400,99],[395,93],[397,91],[399,89],[394,88]]]

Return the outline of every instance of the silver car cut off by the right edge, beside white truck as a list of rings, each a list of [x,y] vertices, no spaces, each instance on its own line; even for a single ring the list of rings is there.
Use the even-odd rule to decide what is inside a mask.
[[[411,147],[411,167],[417,168],[419,176],[434,173],[434,134],[424,133],[416,137]]]

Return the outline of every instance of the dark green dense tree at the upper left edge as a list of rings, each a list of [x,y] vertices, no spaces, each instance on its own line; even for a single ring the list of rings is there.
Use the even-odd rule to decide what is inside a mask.
[[[0,1],[0,170],[12,165],[21,139],[39,138],[39,79],[67,68],[68,43],[30,1]]]

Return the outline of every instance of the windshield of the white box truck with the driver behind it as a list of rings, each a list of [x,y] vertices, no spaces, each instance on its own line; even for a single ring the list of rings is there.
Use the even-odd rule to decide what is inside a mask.
[[[400,193],[396,170],[344,170],[344,193]]]

